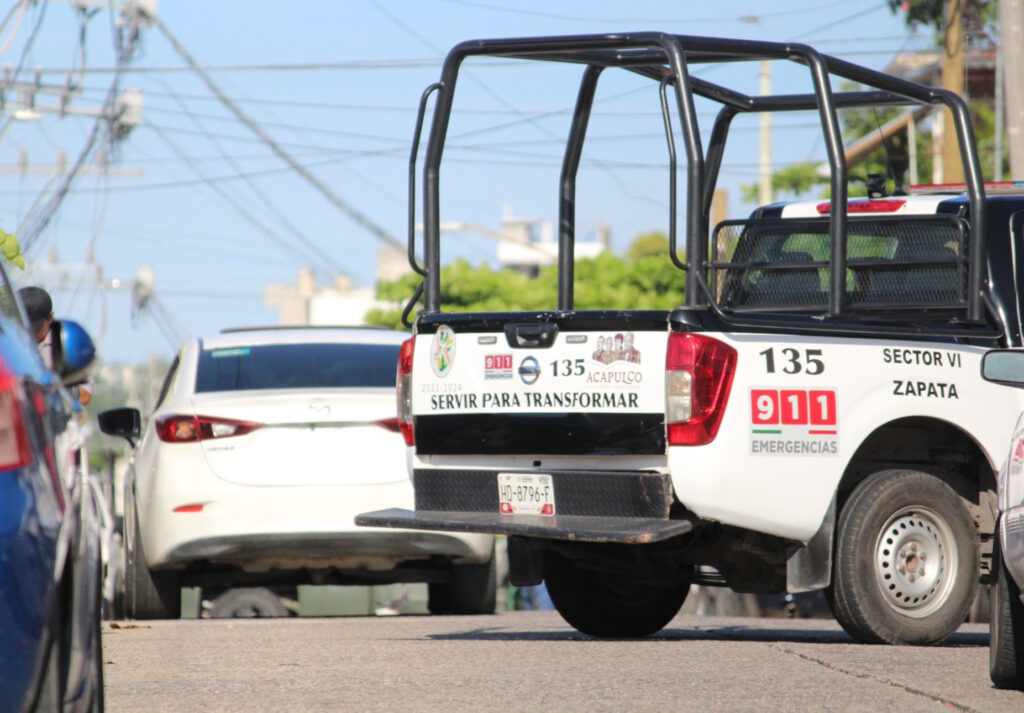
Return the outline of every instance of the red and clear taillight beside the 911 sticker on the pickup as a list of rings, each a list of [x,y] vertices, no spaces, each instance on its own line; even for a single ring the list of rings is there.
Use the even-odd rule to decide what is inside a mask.
[[[710,444],[729,401],[736,350],[701,334],[673,332],[665,369],[669,445]]]

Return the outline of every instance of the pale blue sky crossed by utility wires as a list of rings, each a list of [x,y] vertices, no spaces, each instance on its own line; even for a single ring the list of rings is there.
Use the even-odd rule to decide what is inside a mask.
[[[20,67],[23,81],[33,81],[38,67],[43,85],[57,85],[83,67],[84,56],[82,91],[68,106],[100,107],[116,64],[111,13],[96,11],[83,35],[83,15],[70,2],[29,3],[18,22],[20,4],[0,5],[11,10],[0,32],[0,62],[11,72]],[[164,0],[158,15],[266,135],[399,241],[416,106],[437,80],[444,52],[462,40],[658,30],[807,42],[877,69],[931,43],[928,31],[910,34],[887,3],[856,0]],[[105,361],[167,356],[174,333],[273,324],[264,288],[293,283],[305,266],[322,282],[344,274],[356,285],[373,283],[377,239],[290,169],[184,67],[159,28],[141,33],[120,87],[141,90],[142,119],[116,146],[114,174],[79,175],[27,250],[36,265],[32,276],[10,270],[16,281],[50,287],[58,316],[85,324]],[[797,81],[792,70],[774,72],[778,91]],[[756,66],[707,77],[744,91],[758,87]],[[470,68],[450,129],[442,220],[497,229],[504,210],[557,217],[559,141],[578,81],[577,68],[543,74],[516,62]],[[636,235],[667,226],[665,138],[656,91],[647,84],[631,77],[602,81],[581,169],[579,234],[606,224],[620,252]],[[6,99],[9,113],[14,93]],[[53,107],[55,97],[39,94],[37,103]],[[58,151],[69,163],[82,153],[90,117],[39,115],[4,118],[0,170],[20,156],[38,168],[53,165]],[[774,121],[776,167],[823,159],[812,117]],[[753,207],[740,201],[739,186],[757,179],[756,123],[738,125],[736,136],[722,180],[733,217],[740,217]],[[34,203],[59,183],[52,175],[0,173],[0,226],[25,229]],[[445,237],[442,255],[480,261],[493,259],[494,249],[487,238],[460,234]],[[83,268],[90,256],[93,266]],[[133,319],[125,286],[144,266],[155,276],[158,306]],[[105,289],[96,286],[97,272]],[[114,279],[121,289],[109,287]]]

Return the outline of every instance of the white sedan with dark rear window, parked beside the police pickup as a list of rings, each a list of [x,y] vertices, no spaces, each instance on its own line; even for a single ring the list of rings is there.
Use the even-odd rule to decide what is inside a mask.
[[[494,537],[368,530],[414,495],[395,417],[408,335],[228,330],[171,365],[125,484],[125,613],[176,618],[181,586],[428,582],[434,613],[495,610]],[[134,442],[141,418],[100,428]]]

